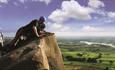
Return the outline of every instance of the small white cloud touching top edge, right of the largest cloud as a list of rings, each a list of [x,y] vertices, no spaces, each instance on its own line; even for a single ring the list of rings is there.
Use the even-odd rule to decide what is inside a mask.
[[[100,0],[89,0],[88,5],[94,9],[104,7],[104,3]]]

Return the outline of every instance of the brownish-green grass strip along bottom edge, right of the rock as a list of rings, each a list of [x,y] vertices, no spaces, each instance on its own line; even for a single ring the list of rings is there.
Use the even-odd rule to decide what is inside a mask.
[[[100,67],[98,64],[82,63],[82,62],[64,62],[65,70],[103,70],[104,67]],[[69,66],[69,67],[68,67]]]

